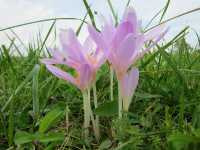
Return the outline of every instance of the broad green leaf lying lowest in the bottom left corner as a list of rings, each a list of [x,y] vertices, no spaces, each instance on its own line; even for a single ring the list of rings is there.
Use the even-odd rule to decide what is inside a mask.
[[[35,140],[35,135],[24,132],[24,131],[19,131],[15,134],[14,142],[17,145],[17,144],[30,143],[33,140]]]

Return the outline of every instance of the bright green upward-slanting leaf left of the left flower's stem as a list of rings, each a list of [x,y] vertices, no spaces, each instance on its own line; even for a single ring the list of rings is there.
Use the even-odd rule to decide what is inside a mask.
[[[63,116],[63,110],[56,108],[48,112],[40,121],[39,132],[44,133]]]

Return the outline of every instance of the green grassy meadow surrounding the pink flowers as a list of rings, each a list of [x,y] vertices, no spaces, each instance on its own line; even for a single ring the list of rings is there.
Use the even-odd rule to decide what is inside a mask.
[[[159,23],[170,21],[163,20],[169,2],[156,16],[160,17]],[[86,0],[84,4],[88,18],[95,25],[93,10]],[[109,6],[117,20],[111,2]],[[26,56],[20,53],[14,40],[9,46],[0,43],[0,150],[200,149],[198,34],[194,33],[197,46],[191,46],[186,42],[190,28],[180,29],[176,36],[159,42],[137,62],[139,84],[129,111],[121,118],[118,118],[116,76],[114,100],[110,101],[110,66],[103,64],[96,77],[98,107],[92,104],[94,114],[100,119],[100,138],[96,139],[90,126],[86,140],[81,91],[52,75],[41,63],[41,58],[48,56],[44,51],[49,35],[54,34],[55,21],[44,39],[26,46]],[[77,35],[84,22],[85,19],[80,21]],[[10,53],[13,49],[17,55]],[[92,103],[94,98],[91,91]]]

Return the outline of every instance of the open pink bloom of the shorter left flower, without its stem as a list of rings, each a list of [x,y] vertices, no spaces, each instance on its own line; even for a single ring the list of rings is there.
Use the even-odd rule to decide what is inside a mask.
[[[69,81],[83,91],[92,84],[98,68],[105,62],[104,53],[89,37],[81,45],[72,29],[62,30],[60,41],[62,50],[50,50],[52,58],[44,58],[41,62],[55,76]],[[76,76],[55,66],[58,64],[73,68]]]

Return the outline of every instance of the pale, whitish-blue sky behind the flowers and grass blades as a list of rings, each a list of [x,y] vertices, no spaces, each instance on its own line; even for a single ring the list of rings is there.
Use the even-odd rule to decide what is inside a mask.
[[[122,16],[127,0],[111,0],[119,18]],[[106,17],[111,16],[107,0],[88,0],[91,8],[98,14]],[[166,4],[166,0],[132,0],[130,6],[134,7],[138,18],[142,20],[143,26]],[[171,0],[170,7],[164,19],[168,19],[185,11],[200,7],[200,0]],[[46,19],[52,17],[77,17],[83,18],[86,10],[82,0],[0,0],[0,29],[9,26]],[[95,16],[97,23],[98,16]],[[89,20],[89,19],[88,19]],[[40,35],[42,38],[47,34],[52,22],[39,23],[13,29],[24,43],[31,42]],[[56,27],[77,29],[79,21],[58,21]],[[195,44],[197,39],[194,31],[200,33],[200,11],[181,17],[166,24],[170,27],[168,38],[180,32],[185,26],[191,27],[188,41]],[[52,35],[53,36],[53,35]],[[80,39],[87,36],[86,27],[83,28]],[[11,31],[0,32],[0,44],[9,42],[9,38],[15,37]],[[19,42],[19,41],[18,41]],[[49,46],[54,45],[48,41]]]

